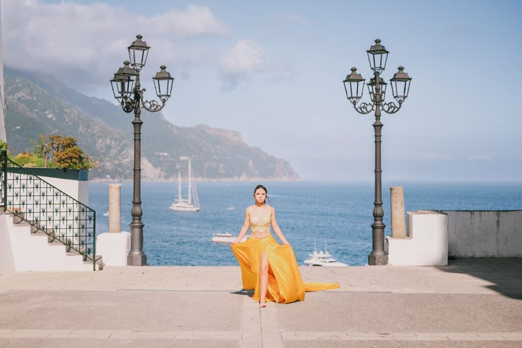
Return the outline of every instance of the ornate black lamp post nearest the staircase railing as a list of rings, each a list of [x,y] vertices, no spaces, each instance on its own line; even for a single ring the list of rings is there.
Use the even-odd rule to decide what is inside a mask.
[[[156,95],[161,105],[156,100],[144,100],[145,88],[141,88],[139,72],[145,66],[149,48],[142,36],[136,35],[136,40],[128,47],[129,60],[123,62],[111,80],[114,98],[120,102],[123,111],[130,113],[134,111],[134,195],[132,206],[131,226],[131,251],[127,255],[127,265],[144,266],[147,264],[147,255],[143,252],[143,227],[141,222],[141,108],[150,112],[163,109],[172,92],[174,78],[165,70],[167,67],[160,66],[160,71],[152,77]],[[129,66],[130,64],[130,66]]]

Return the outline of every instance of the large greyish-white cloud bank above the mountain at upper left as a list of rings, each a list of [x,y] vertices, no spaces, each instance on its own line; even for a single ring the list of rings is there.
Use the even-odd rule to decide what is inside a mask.
[[[101,3],[4,0],[2,15],[5,64],[51,73],[75,88],[110,78],[128,59],[126,48],[134,40],[129,32],[142,34],[151,46],[150,75],[160,64],[172,72],[208,60],[207,48],[183,40],[230,32],[208,7],[194,5],[147,17]]]

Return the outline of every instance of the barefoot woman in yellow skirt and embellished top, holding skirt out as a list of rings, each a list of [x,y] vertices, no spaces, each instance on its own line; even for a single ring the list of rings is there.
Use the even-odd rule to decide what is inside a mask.
[[[263,185],[255,188],[256,204],[246,208],[245,222],[232,243],[232,252],[241,268],[243,288],[254,289],[253,298],[259,301],[259,307],[266,307],[266,301],[302,301],[306,291],[338,288],[337,283],[303,283],[293,249],[277,225],[276,210],[265,204],[266,195]],[[270,225],[283,245],[270,234]],[[252,234],[240,243],[248,227]]]

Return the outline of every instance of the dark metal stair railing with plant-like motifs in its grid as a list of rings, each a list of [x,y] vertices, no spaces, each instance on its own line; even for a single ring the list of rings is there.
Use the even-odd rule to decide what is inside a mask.
[[[74,251],[92,260],[96,270],[96,212],[75,200],[49,182],[35,176],[0,150],[0,205],[4,212],[51,236]]]

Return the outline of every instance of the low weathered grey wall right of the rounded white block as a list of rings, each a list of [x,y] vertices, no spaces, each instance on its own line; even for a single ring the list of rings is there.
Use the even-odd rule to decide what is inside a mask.
[[[442,211],[450,257],[522,257],[522,211]]]

